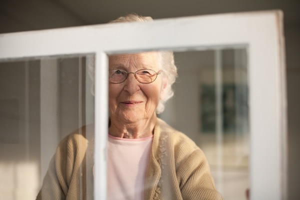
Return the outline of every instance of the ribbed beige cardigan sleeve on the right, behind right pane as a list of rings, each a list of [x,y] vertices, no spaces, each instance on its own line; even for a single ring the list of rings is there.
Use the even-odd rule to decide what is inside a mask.
[[[215,188],[208,161],[198,147],[181,160],[177,168],[177,179],[183,199],[223,199]]]

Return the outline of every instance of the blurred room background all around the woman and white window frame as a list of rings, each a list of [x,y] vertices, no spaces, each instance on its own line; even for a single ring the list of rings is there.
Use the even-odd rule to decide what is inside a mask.
[[[1,0],[0,33],[106,23],[130,12],[158,19],[283,10],[288,97],[288,199],[293,200],[300,197],[297,186],[300,179],[300,64],[297,60],[300,52],[299,8],[299,0]],[[203,149],[218,188],[227,192],[226,199],[245,199],[244,193],[248,186],[246,59],[246,50],[242,48],[176,53],[179,78],[174,85],[175,96],[161,114],[162,118],[187,133]],[[49,65],[51,69],[46,67]],[[40,174],[44,174],[43,170],[48,163],[47,159],[41,158],[42,152],[51,156],[61,138],[81,125],[92,122],[92,107],[86,106],[93,102],[89,92],[91,83],[87,65],[88,57],[85,56],[1,63],[1,199],[34,198],[43,177]],[[214,122],[217,65],[222,69],[221,137],[217,136],[216,132],[220,130],[217,130]],[[49,80],[52,81],[51,87],[41,84],[49,74],[56,74]],[[189,92],[183,95],[186,88],[189,88]],[[52,98],[43,92],[49,89],[56,91],[55,95],[51,94]],[[178,93],[180,95],[176,95]],[[51,106],[42,106],[42,97],[47,100],[43,102]],[[188,102],[191,106],[178,107],[182,102]],[[172,109],[174,107],[176,109]],[[53,112],[52,116],[56,117],[50,118],[49,112]],[[49,132],[40,132],[43,126],[41,118],[53,122],[51,137],[47,137]],[[215,147],[217,144],[221,148]],[[15,160],[25,161],[15,164]],[[31,184],[28,179],[32,180]],[[235,184],[229,187],[230,184],[224,184],[230,181]],[[34,188],[26,194],[27,198],[24,192],[27,190],[28,193],[28,189],[24,185]]]

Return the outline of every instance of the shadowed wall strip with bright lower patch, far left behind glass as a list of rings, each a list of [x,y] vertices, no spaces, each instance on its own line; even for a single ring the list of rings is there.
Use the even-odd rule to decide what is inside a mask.
[[[0,63],[0,199],[33,199],[39,189],[38,61]]]

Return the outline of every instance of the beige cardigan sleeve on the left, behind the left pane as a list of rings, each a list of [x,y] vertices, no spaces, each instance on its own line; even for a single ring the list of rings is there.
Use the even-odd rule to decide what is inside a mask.
[[[79,166],[85,154],[86,140],[72,133],[58,145],[52,157],[36,200],[71,199],[80,188]]]

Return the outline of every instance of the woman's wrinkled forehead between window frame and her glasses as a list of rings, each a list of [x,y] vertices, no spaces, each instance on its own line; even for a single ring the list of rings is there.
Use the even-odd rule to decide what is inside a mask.
[[[120,65],[120,66],[158,66],[158,53],[156,51],[151,52],[140,52],[132,54],[118,54],[109,56],[109,66]]]

